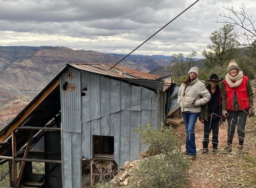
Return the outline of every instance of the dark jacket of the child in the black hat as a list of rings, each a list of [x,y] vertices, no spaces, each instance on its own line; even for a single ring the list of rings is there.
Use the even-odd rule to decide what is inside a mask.
[[[219,120],[219,116],[222,114],[221,89],[219,88],[219,85],[217,85],[215,92],[212,93],[210,84],[206,86],[206,88],[211,94],[211,99],[209,103],[202,106],[199,118],[204,118],[205,121],[210,121],[211,118],[212,121]]]

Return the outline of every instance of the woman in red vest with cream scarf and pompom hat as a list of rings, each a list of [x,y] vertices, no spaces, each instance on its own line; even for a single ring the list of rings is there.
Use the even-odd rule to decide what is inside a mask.
[[[222,84],[221,99],[222,115],[228,121],[228,140],[224,150],[231,152],[236,125],[238,126],[238,149],[243,149],[247,115],[249,117],[254,115],[253,90],[248,77],[239,70],[235,60],[230,62],[227,71]]]

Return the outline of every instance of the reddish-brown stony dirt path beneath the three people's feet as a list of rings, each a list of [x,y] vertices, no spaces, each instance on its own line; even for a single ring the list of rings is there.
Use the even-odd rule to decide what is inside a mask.
[[[255,122],[253,125],[251,119],[247,119],[245,146],[242,151],[243,154],[255,154],[256,132],[254,131]],[[174,132],[185,142],[185,130],[183,126],[176,127]],[[219,126],[218,149],[220,153],[213,153],[212,144],[209,143],[209,153],[202,154],[203,132],[203,124],[198,121],[195,126],[197,158],[193,161],[192,167],[189,170],[190,179],[187,186],[197,188],[237,187],[233,177],[241,175],[237,172],[239,171],[239,168],[237,168],[236,165],[242,163],[240,158],[232,154],[241,153],[237,148],[237,133],[235,133],[233,138],[232,153],[227,154],[223,151],[224,147],[227,145],[227,122],[225,122],[224,125]],[[210,134],[209,138],[212,138],[212,134]],[[184,150],[185,146],[183,146],[182,149]]]

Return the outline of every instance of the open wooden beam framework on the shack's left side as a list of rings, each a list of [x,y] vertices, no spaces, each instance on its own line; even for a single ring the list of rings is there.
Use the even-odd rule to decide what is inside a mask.
[[[0,135],[0,144],[2,144],[6,139],[11,139],[11,148],[10,146],[6,145],[9,149],[11,149],[12,156],[0,156],[0,159],[5,159],[9,163],[9,177],[10,177],[10,186],[18,187],[21,183],[21,177],[23,175],[23,170],[26,161],[29,162],[44,162],[44,163],[56,163],[60,164],[61,161],[59,160],[47,160],[47,159],[34,159],[28,158],[29,149],[32,144],[32,138],[38,131],[60,131],[60,128],[56,127],[37,127],[37,126],[24,126],[26,121],[29,120],[29,116],[35,113],[35,109],[44,101],[46,100],[47,96],[51,94],[51,92],[59,86],[59,79],[55,80],[46,90],[40,93],[39,97],[31,103],[29,108],[24,109],[14,120],[14,122],[10,123],[8,129]],[[47,121],[47,120],[46,120]],[[49,121],[49,120],[48,120]],[[58,122],[56,122],[58,123]],[[22,126],[23,125],[23,126]],[[17,157],[17,139],[15,132],[17,130],[28,130],[29,138],[26,142],[26,149],[23,153],[23,158]],[[11,138],[10,138],[11,136]],[[27,138],[27,137],[26,137]],[[6,154],[9,150],[5,148],[2,150],[2,155]],[[20,148],[20,147],[19,147]],[[1,154],[0,154],[1,155]],[[17,170],[17,165],[19,167],[19,171]]]

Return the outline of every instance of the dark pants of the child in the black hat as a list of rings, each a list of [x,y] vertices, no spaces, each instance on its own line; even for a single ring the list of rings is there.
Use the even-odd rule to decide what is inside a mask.
[[[212,147],[213,149],[217,149],[218,147],[218,135],[219,135],[219,118],[215,121],[204,121],[204,140],[203,140],[203,148],[207,148],[210,142],[209,135],[212,130]]]

